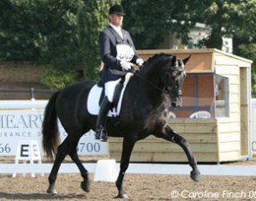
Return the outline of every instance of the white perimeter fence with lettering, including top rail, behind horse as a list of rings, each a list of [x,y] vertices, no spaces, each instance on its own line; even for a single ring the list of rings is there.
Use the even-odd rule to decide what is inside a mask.
[[[16,155],[19,140],[36,139],[42,150],[41,125],[48,100],[0,100],[0,156]],[[256,99],[252,99],[252,150],[256,154]],[[67,133],[60,126],[61,139]],[[85,133],[79,141],[80,155],[108,155],[108,143],[94,139],[93,132]]]

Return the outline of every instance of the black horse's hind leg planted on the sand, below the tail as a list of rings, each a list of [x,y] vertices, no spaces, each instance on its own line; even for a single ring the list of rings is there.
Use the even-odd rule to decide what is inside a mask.
[[[56,188],[55,188],[55,183],[56,183],[56,177],[57,173],[59,171],[59,168],[62,164],[63,159],[68,154],[68,147],[69,146],[69,138],[66,138],[60,146],[58,146],[57,152],[56,152],[56,159],[54,161],[54,165],[51,169],[51,172],[49,173],[49,188],[47,190],[48,193],[56,194]]]

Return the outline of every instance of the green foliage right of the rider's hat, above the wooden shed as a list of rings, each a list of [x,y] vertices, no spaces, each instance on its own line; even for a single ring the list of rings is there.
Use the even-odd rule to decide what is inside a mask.
[[[195,23],[212,29],[204,44],[208,48],[221,49],[222,36],[256,38],[256,0],[122,0],[122,4],[127,13],[124,26],[138,49],[157,48],[169,30],[187,44],[187,34]]]

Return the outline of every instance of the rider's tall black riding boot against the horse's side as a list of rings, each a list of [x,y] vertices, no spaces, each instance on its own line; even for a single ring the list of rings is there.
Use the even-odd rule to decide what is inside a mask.
[[[104,126],[105,126],[107,114],[110,108],[111,108],[111,102],[109,102],[108,97],[105,96],[102,100],[100,112],[96,121],[95,139],[100,139],[101,141],[107,141],[108,139],[108,133],[104,128]]]

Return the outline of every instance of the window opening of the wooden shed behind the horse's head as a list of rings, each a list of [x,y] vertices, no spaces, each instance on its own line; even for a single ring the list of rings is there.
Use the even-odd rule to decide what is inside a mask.
[[[228,117],[228,78],[190,73],[183,82],[182,93],[182,107],[170,108],[176,118]]]

